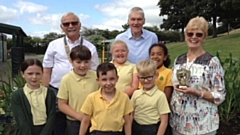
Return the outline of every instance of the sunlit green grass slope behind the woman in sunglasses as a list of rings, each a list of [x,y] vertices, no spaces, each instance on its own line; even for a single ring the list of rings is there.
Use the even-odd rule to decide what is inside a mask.
[[[175,58],[185,52],[188,51],[186,42],[178,42],[178,43],[169,43],[167,44],[171,63],[174,62]],[[211,53],[212,55],[216,55],[217,51],[220,51],[221,59],[225,59],[229,56],[229,53],[233,54],[233,57],[240,57],[240,31],[235,31],[230,33],[229,35],[223,34],[218,36],[217,38],[208,38],[206,39],[204,45],[204,49]]]

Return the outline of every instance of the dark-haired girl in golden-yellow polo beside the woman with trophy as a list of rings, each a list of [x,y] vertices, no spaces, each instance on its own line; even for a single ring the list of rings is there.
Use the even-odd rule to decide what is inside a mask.
[[[168,68],[170,65],[170,58],[168,49],[164,44],[153,44],[149,48],[150,59],[155,61],[158,66],[158,78],[155,80],[158,89],[166,94],[168,102],[170,102],[173,84],[172,84],[172,70]]]

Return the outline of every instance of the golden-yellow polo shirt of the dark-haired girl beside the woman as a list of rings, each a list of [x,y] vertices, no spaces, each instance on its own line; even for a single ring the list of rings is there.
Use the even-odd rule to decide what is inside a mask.
[[[163,91],[165,90],[165,87],[167,86],[173,86],[172,84],[172,69],[166,68],[165,66],[162,66],[157,70],[158,77],[155,80],[155,84],[157,85],[158,89]],[[139,82],[139,88],[142,88],[142,84]]]

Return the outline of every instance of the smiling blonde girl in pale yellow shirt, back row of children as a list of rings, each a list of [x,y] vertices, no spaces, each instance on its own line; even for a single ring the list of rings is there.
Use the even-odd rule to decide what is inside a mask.
[[[128,47],[122,40],[116,40],[111,45],[111,53],[114,57],[112,63],[118,71],[116,89],[125,92],[129,97],[138,88],[137,70],[135,64],[127,61]]]

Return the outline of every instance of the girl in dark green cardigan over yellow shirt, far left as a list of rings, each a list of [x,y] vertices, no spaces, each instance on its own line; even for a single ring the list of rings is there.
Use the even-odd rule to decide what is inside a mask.
[[[42,63],[27,59],[21,65],[26,84],[13,92],[11,110],[17,122],[17,135],[51,135],[55,119],[54,92],[40,84]]]

